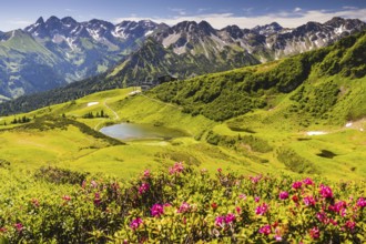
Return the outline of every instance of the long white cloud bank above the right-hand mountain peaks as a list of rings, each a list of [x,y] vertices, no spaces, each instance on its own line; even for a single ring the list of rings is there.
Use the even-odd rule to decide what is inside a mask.
[[[295,9],[296,10],[296,9]],[[197,16],[179,16],[174,18],[143,18],[143,17],[130,17],[130,18],[118,18],[112,22],[119,23],[123,20],[144,20],[151,19],[155,22],[164,22],[166,24],[173,26],[184,20],[191,20],[200,22],[205,20],[210,22],[214,28],[221,29],[231,24],[236,24],[241,28],[253,28],[256,26],[264,26],[271,22],[278,22],[281,26],[286,28],[295,28],[299,27],[308,21],[316,22],[326,22],[331,20],[333,17],[343,17],[350,19],[360,19],[366,21],[366,9],[343,9],[339,11],[326,11],[326,10],[308,10],[301,12],[276,12],[270,13],[266,16],[257,16],[257,17],[237,17],[233,13],[211,13],[211,14],[197,14]]]

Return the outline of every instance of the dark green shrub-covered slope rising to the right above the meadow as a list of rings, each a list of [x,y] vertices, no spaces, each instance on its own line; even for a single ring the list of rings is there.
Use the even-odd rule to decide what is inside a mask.
[[[180,104],[184,112],[193,115],[224,121],[255,109],[271,109],[273,96],[301,87],[291,96],[294,103],[291,109],[321,118],[326,116],[338,100],[349,99],[349,94],[357,94],[353,100],[357,100],[358,105],[365,104],[365,93],[362,90],[357,93],[362,88],[353,87],[353,80],[365,74],[366,34],[363,32],[332,47],[281,61],[164,83],[150,94]],[[353,88],[343,96],[338,95],[346,89],[338,82],[342,79],[349,80],[347,85]],[[345,115],[357,119],[366,114],[364,106],[354,111],[355,114],[352,114],[354,108],[348,108],[349,114]]]

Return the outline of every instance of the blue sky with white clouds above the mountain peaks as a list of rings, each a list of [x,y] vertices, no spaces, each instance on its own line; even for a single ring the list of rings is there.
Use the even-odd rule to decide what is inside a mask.
[[[0,30],[24,28],[39,17],[51,16],[113,23],[141,19],[167,24],[206,20],[217,29],[228,24],[253,28],[277,21],[294,28],[307,21],[325,22],[335,16],[366,21],[366,0],[10,0],[1,4]]]

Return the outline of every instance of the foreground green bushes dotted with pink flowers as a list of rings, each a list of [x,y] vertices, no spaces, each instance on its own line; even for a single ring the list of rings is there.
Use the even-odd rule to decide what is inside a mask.
[[[54,185],[12,173],[0,171],[2,243],[365,242],[365,182],[221,169],[212,177],[182,163],[124,184],[94,176]]]

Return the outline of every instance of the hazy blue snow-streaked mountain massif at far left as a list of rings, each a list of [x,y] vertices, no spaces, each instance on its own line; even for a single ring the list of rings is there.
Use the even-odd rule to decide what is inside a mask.
[[[24,30],[0,32],[0,94],[17,98],[104,72],[159,28],[152,21],[114,26],[51,17]]]

